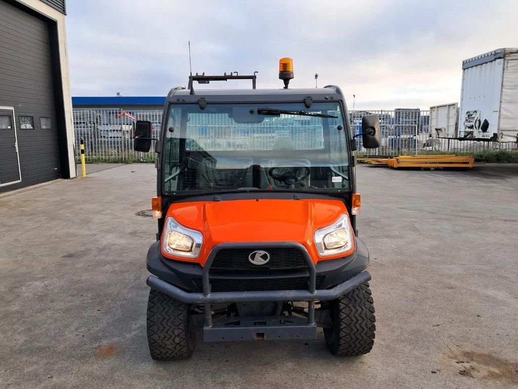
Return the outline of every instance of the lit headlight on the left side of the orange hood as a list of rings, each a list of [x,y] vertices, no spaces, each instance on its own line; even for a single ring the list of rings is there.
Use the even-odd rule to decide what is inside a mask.
[[[174,218],[168,217],[163,234],[162,249],[165,253],[186,258],[199,255],[203,243],[201,232],[183,227]]]

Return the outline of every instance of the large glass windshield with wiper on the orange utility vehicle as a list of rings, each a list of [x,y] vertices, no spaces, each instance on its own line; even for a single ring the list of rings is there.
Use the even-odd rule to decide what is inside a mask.
[[[171,104],[164,193],[348,191],[345,129],[338,102]]]

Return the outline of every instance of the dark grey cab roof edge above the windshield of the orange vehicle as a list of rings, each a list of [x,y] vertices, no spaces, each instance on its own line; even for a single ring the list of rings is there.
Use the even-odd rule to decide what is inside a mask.
[[[342,100],[340,88],[298,89],[196,89],[190,94],[189,89],[173,88],[167,96],[167,102],[197,102],[205,98],[208,102],[292,102],[304,101],[310,96],[314,101]]]

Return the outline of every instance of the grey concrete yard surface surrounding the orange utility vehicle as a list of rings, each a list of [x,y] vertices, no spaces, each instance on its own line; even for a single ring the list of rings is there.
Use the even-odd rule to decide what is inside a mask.
[[[111,167],[113,167],[112,165]],[[368,355],[312,341],[197,343],[156,363],[146,340],[151,164],[0,199],[2,388],[518,386],[517,165],[359,166],[377,333]]]

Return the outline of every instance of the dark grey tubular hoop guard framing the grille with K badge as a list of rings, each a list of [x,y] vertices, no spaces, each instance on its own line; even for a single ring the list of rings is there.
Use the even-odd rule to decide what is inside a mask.
[[[211,285],[210,285],[210,268],[212,266],[212,262],[216,254],[222,249],[225,248],[243,248],[243,249],[257,249],[257,247],[261,247],[261,249],[268,250],[268,248],[298,248],[304,256],[306,260],[306,264],[309,270],[309,280],[308,280],[308,292],[313,295],[316,289],[316,269],[311,256],[309,255],[306,247],[303,244],[296,242],[264,242],[264,243],[222,243],[217,246],[214,246],[212,251],[205,262],[205,266],[203,267],[202,272],[202,285],[203,285],[203,295],[205,297],[209,297],[211,294]],[[239,292],[236,290],[236,292]],[[243,293],[247,293],[244,292]],[[205,327],[212,327],[212,304],[205,303]],[[315,301],[308,300],[308,325],[315,325]]]

